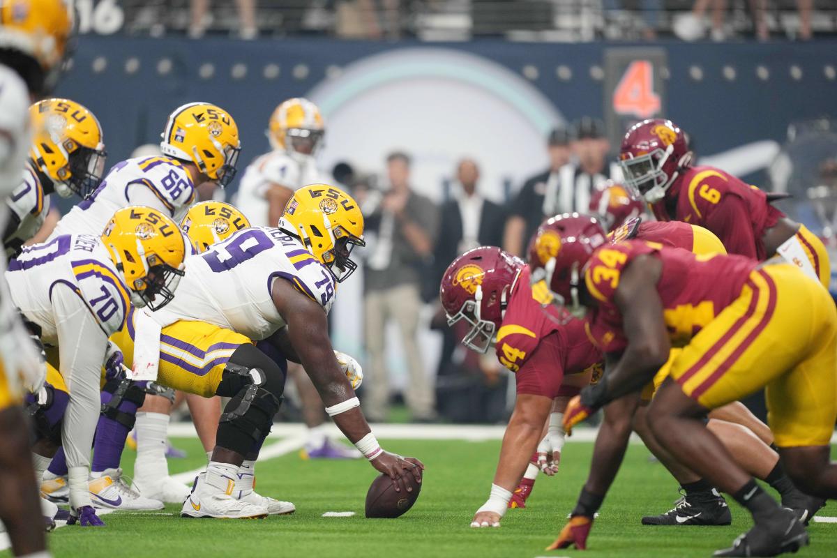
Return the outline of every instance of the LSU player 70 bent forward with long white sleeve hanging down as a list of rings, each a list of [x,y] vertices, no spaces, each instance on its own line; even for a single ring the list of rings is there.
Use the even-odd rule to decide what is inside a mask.
[[[171,219],[131,206],[116,212],[100,237],[64,235],[23,248],[6,272],[28,326],[58,350],[57,366],[49,366],[69,388],[60,437],[70,512],[81,525],[104,525],[91,505],[88,477],[108,335],[125,324],[131,305],[162,308],[172,299],[185,246]]]

